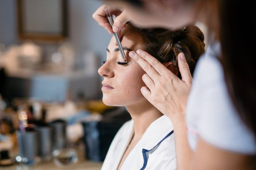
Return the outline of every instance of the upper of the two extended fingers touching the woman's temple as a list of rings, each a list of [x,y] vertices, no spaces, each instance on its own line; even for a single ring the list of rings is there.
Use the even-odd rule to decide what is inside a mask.
[[[136,53],[147,61],[160,75],[164,75],[169,73],[168,70],[160,61],[158,61],[155,57],[151,56],[149,53],[144,50],[138,49]],[[171,72],[171,71],[170,71]]]

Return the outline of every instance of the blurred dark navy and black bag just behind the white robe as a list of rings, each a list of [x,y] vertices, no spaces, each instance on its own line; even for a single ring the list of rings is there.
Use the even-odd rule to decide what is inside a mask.
[[[104,161],[115,134],[130,119],[124,107],[116,107],[106,110],[99,122],[83,122],[86,159]]]

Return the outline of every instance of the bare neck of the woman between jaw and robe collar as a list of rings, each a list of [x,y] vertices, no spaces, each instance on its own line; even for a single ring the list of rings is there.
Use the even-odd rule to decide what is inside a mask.
[[[134,139],[141,138],[150,124],[163,116],[163,114],[147,100],[126,105],[125,107],[134,122]]]

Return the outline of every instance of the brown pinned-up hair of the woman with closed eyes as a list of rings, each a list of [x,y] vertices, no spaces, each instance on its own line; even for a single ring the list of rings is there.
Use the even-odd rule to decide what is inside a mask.
[[[173,31],[163,28],[138,28],[127,23],[126,31],[142,36],[146,52],[161,63],[172,62],[178,68],[178,54],[184,53],[193,75],[198,58],[205,52],[204,35],[195,25]],[[181,75],[178,75],[181,78]]]

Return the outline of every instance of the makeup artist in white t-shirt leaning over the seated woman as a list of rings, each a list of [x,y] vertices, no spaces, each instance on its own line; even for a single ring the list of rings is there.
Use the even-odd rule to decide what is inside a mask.
[[[248,43],[256,38],[255,2],[104,2],[117,15],[113,30],[106,5],[93,18],[109,33],[120,33],[127,21],[170,29],[195,21],[207,25],[210,44],[199,59],[194,80],[183,53],[178,57],[182,80],[147,52],[129,53],[147,73],[142,77],[147,87],[141,93],[173,123],[177,169],[255,169],[256,59],[253,43]]]

